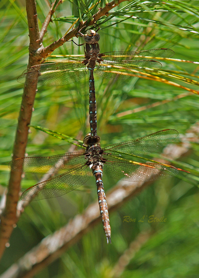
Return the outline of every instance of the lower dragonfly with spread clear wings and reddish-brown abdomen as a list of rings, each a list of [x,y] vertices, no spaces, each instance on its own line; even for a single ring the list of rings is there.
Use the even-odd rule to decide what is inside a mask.
[[[137,140],[101,148],[100,137],[92,138],[88,133],[83,141],[83,147],[86,148],[84,152],[69,152],[48,157],[23,157],[11,161],[8,167],[15,171],[38,174],[69,169],[60,176],[26,189],[21,195],[24,201],[37,201],[64,195],[85,184],[91,175],[91,169],[96,179],[104,232],[107,243],[111,243],[111,227],[102,182],[103,168],[110,177],[130,182],[152,181],[175,176],[178,173],[176,167],[162,163],[139,163],[122,156],[154,152],[172,142],[177,136],[177,130],[160,130]]]

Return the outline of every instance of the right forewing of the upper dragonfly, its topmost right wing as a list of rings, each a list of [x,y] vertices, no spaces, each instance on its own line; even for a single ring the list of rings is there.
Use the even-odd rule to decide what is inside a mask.
[[[129,62],[133,60],[155,60],[162,61],[174,56],[175,52],[168,48],[157,48],[133,52],[106,52],[100,54],[102,59],[117,62]]]

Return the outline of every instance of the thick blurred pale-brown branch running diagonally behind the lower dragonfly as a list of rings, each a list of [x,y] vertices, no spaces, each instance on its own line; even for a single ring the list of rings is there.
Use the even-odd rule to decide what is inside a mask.
[[[193,130],[195,127],[193,127]],[[193,134],[193,130],[188,132]],[[198,129],[195,129],[198,130]],[[195,132],[196,133],[196,132]],[[198,134],[198,133],[197,133]],[[187,136],[187,139],[189,136]],[[191,138],[198,142],[198,136]],[[173,147],[175,146],[175,152]],[[163,155],[170,153],[170,158],[180,158],[188,153],[188,149],[178,145],[170,144],[165,148]],[[171,151],[169,151],[171,149]],[[163,160],[161,161],[163,163]],[[146,186],[152,182],[132,183],[119,181],[116,186],[109,190],[107,194],[107,203],[109,212],[119,208],[129,199],[139,194]],[[79,241],[94,225],[101,221],[99,205],[97,202],[89,205],[85,212],[77,215],[67,225],[56,231],[53,235],[44,238],[40,244],[25,254],[17,263],[13,264],[0,278],[31,278],[41,269],[49,265],[55,259],[61,256],[70,246]]]

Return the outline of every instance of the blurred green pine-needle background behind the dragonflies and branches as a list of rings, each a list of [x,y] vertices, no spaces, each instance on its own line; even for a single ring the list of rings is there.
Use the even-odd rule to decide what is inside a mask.
[[[66,17],[67,22],[61,19],[50,23],[44,46],[63,36],[77,19],[73,2],[65,0],[58,7],[53,19]],[[96,3],[89,1],[90,6],[92,2]],[[129,6],[124,8],[126,5]],[[120,12],[116,12],[118,9]],[[41,28],[49,10],[47,1],[38,0],[37,10]],[[128,18],[129,15],[139,18]],[[158,130],[176,129],[179,137],[175,143],[186,143],[188,154],[180,157],[175,166],[191,174],[180,172],[177,177],[156,181],[111,213],[112,244],[107,245],[100,222],[36,278],[112,277],[111,273],[119,267],[119,258],[123,254],[126,254],[127,262],[119,276],[122,278],[199,277],[199,95],[181,87],[199,90],[196,77],[199,67],[180,61],[199,61],[198,21],[198,1],[126,1],[111,10],[108,17],[99,20],[101,53],[171,48],[175,51],[173,58],[179,61],[162,62],[162,71],[156,75],[180,85],[176,87],[146,78],[112,81],[95,74],[101,147],[137,139]],[[25,2],[1,0],[0,25],[0,194],[3,195],[9,179],[7,164],[12,159],[23,92],[23,85],[16,79],[26,69],[28,61]],[[74,40],[82,43],[81,38]],[[83,46],[67,42],[53,54],[83,53]],[[176,74],[176,78],[171,74]],[[190,79],[185,80],[185,77]],[[178,97],[183,93],[186,95]],[[140,107],[144,107],[142,111],[131,111]],[[82,130],[84,136],[89,131],[86,125],[88,74],[68,86],[39,86],[34,109],[31,124],[72,137]],[[67,152],[69,147],[69,143],[31,128],[27,154],[50,156]],[[148,157],[157,158],[159,154]],[[39,180],[39,175],[26,174],[22,190]],[[106,192],[116,183],[117,180],[104,175]],[[0,274],[93,202],[97,202],[94,177],[86,185],[60,198],[30,203],[1,259]],[[148,223],[146,216],[149,215],[164,216],[167,221]],[[137,221],[123,222],[124,216]],[[144,222],[138,222],[143,216]],[[137,241],[142,231],[152,233],[136,251],[131,243]]]

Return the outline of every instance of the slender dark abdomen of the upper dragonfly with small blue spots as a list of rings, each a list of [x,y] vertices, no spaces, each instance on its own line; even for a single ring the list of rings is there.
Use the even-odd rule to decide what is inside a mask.
[[[89,68],[89,123],[91,130],[91,138],[97,136],[97,108],[96,108],[96,95],[95,95],[95,82],[93,70]]]

